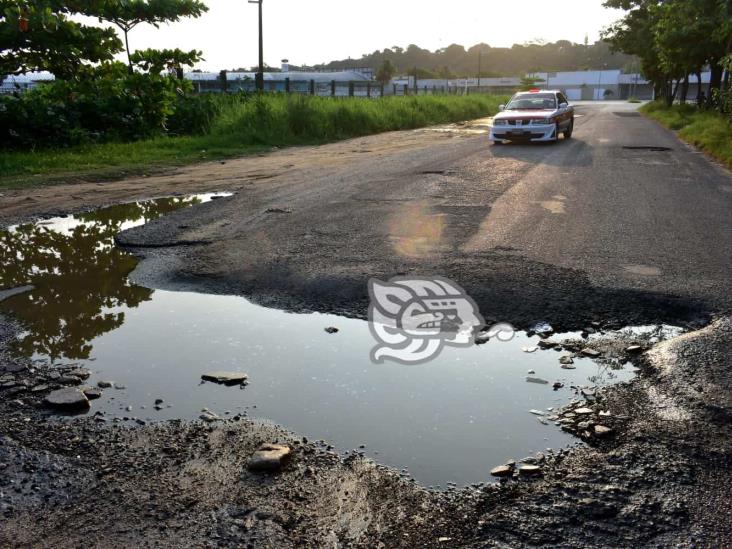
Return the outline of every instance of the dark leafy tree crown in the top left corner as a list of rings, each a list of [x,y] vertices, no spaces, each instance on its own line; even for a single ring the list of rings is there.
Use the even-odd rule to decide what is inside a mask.
[[[95,15],[94,0],[0,0],[0,75],[50,71],[73,79],[122,51],[114,29],[71,17]]]

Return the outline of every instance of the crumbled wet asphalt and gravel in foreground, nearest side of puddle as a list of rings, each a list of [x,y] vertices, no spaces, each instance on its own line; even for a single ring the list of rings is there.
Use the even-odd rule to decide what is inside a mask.
[[[595,420],[609,411],[612,436],[533,456],[536,477],[430,492],[358,452],[343,458],[245,417],[140,426],[93,405],[73,420],[50,415],[33,387],[54,388],[51,370],[8,359],[17,326],[3,319],[0,365],[24,369],[0,390],[0,545],[729,546],[732,444],[720,410],[731,326],[661,343],[634,357],[635,381],[569,405]],[[635,342],[646,345],[593,345],[622,357]],[[263,442],[294,448],[281,473],[246,471]]]

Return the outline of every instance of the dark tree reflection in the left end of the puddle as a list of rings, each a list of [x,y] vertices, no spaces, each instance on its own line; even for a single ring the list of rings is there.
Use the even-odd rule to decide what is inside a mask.
[[[0,311],[24,325],[16,351],[89,358],[90,341],[124,323],[125,313],[114,309],[137,307],[153,294],[127,280],[137,260],[114,246],[114,236],[207,200],[210,195],[120,204],[0,232],[0,289],[34,286],[0,303]]]

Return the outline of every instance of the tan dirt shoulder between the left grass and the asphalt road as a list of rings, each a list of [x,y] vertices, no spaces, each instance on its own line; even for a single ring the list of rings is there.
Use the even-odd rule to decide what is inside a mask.
[[[112,181],[71,181],[56,185],[0,190],[0,226],[37,217],[60,215],[155,198],[214,191],[237,191],[254,183],[287,176],[299,170],[338,168],[365,154],[380,155],[419,149],[484,131],[486,121],[449,124],[437,128],[387,132],[318,146],[274,149],[268,153],[215,162],[156,169],[149,176]]]

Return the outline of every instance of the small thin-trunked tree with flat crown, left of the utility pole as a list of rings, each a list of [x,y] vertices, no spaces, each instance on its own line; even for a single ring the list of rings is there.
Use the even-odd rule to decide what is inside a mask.
[[[183,17],[200,17],[208,8],[198,0],[107,0],[100,6],[99,21],[116,25],[124,35],[127,66],[133,72],[129,33],[137,25],[147,23],[158,28],[163,23]]]

